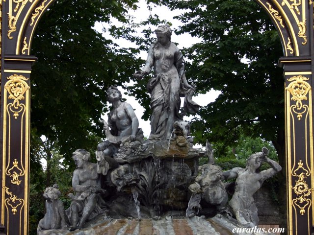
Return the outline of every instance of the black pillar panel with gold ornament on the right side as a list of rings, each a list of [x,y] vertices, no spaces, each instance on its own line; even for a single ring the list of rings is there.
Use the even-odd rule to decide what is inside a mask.
[[[313,108],[310,80],[311,72],[286,72],[286,157],[290,234],[302,231],[302,234],[310,235],[314,223]],[[307,228],[304,227],[304,219],[307,221]]]

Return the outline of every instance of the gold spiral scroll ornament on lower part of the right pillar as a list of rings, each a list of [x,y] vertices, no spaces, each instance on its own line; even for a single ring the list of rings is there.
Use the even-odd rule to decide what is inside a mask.
[[[305,182],[305,172],[296,174],[299,169],[308,173],[308,170],[303,167],[302,160],[300,160],[298,162],[298,168],[292,172],[292,175],[298,177],[298,180],[295,181],[295,185],[291,187],[294,190],[294,193],[298,196],[292,200],[292,203],[300,209],[300,214],[304,215],[305,208],[312,204],[312,200],[307,198],[310,196],[312,188],[309,188],[308,184]]]

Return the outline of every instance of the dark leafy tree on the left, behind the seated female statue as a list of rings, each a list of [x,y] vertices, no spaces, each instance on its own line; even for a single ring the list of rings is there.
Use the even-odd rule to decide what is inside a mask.
[[[78,147],[93,150],[103,136],[101,113],[107,111],[106,89],[123,85],[139,67],[134,48],[122,48],[93,27],[103,22],[114,37],[134,31],[128,9],[137,0],[59,0],[43,16],[34,35],[38,57],[31,77],[31,128],[37,137],[58,141],[72,164]],[[112,25],[116,19],[124,25]]]

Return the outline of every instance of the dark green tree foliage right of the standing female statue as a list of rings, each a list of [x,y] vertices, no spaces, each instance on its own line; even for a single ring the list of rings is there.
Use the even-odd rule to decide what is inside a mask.
[[[283,54],[277,31],[252,0],[162,0],[202,42],[183,51],[190,82],[199,93],[221,91],[192,122],[195,140],[234,144],[242,133],[272,141],[284,151]]]

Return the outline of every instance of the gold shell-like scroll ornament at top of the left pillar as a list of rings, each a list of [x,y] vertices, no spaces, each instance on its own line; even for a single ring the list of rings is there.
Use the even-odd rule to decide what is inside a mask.
[[[13,117],[17,119],[19,113],[25,110],[25,105],[21,104],[20,101],[25,99],[24,94],[29,90],[29,86],[25,82],[28,78],[14,74],[7,77],[7,79],[9,81],[4,85],[4,89],[9,93],[8,99],[14,99],[13,103],[7,105],[7,108],[13,113]]]

